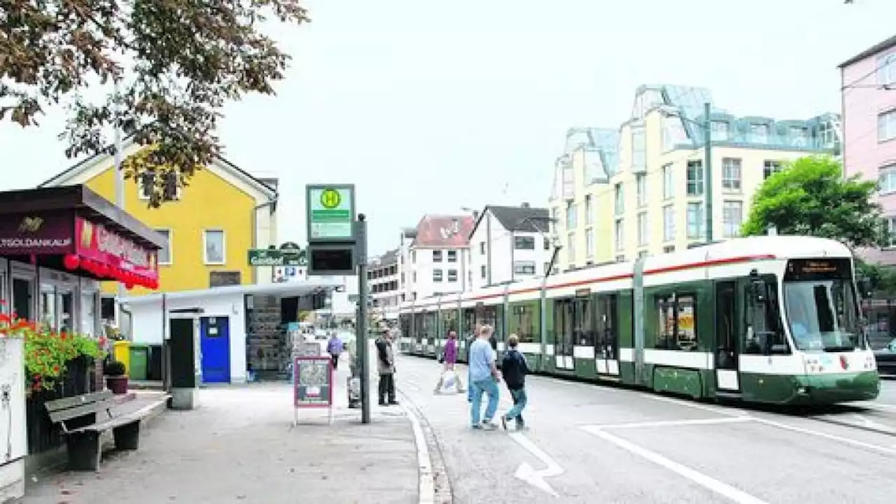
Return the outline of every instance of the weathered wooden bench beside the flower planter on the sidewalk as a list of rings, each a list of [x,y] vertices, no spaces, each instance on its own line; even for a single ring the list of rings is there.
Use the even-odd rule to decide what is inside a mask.
[[[134,400],[133,394],[113,395],[112,391],[65,397],[44,404],[50,421],[59,424],[65,435],[68,465],[75,471],[96,471],[102,458],[100,436],[112,430],[119,450],[135,450],[140,441],[140,421],[149,412],[115,414],[112,408]]]

